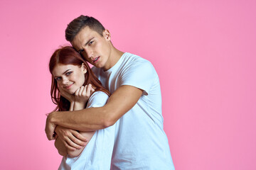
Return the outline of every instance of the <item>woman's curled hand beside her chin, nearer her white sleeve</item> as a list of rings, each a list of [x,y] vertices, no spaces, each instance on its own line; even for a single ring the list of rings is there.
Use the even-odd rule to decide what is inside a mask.
[[[92,84],[81,86],[77,91],[75,91],[75,104],[85,106],[85,103],[94,91],[95,89],[92,88]]]

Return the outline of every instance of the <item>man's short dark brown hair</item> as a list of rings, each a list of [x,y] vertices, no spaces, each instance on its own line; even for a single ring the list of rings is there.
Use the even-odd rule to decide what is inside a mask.
[[[82,28],[88,26],[90,29],[95,30],[97,33],[103,36],[103,31],[105,30],[104,26],[97,21],[97,19],[91,16],[79,16],[75,18],[68,24],[68,27],[65,30],[65,38],[69,42],[72,42],[75,38],[75,35],[79,33]]]

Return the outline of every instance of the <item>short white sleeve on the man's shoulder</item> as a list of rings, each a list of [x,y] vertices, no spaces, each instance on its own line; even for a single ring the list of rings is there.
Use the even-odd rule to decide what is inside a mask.
[[[144,95],[148,95],[156,77],[158,76],[151,62],[134,60],[122,72],[121,85],[135,86],[142,89]]]

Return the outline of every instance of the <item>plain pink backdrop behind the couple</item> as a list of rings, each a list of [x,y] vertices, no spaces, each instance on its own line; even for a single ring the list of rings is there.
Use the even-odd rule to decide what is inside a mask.
[[[1,169],[57,169],[48,60],[95,16],[159,74],[176,169],[256,169],[255,1],[0,1]]]

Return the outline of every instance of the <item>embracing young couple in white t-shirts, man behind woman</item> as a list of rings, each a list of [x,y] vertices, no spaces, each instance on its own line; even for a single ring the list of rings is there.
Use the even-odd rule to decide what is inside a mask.
[[[73,47],[50,58],[57,108],[46,120],[63,156],[59,169],[174,169],[152,64],[117,50],[89,16],[71,21],[65,38]]]

